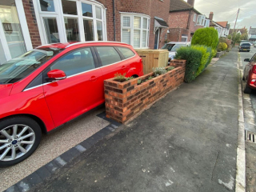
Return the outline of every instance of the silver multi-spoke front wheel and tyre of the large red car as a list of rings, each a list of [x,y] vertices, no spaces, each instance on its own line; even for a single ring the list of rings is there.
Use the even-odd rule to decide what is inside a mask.
[[[6,118],[0,122],[0,167],[22,162],[38,148],[40,126],[32,118]]]

